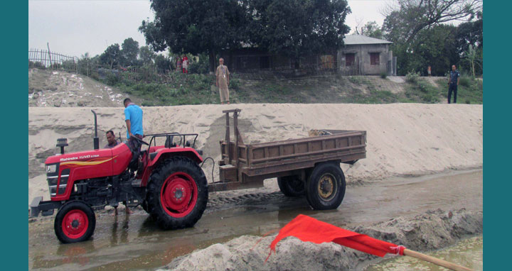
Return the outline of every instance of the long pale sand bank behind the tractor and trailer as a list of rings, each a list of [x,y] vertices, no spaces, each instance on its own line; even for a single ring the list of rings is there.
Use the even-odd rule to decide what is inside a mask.
[[[137,102],[137,101],[136,101]],[[220,159],[225,109],[242,109],[240,131],[245,143],[302,138],[311,129],[367,131],[367,158],[343,165],[347,182],[391,175],[419,175],[447,169],[481,167],[483,106],[466,104],[235,104],[144,107],[144,132],[198,133],[203,157]],[[94,109],[100,146],[105,131],[126,138],[123,108],[28,109],[29,199],[48,187],[43,162],[59,153],[57,138],[68,138],[66,151],[92,149]],[[233,130],[233,129],[232,129]],[[211,162],[204,170],[212,182]],[[215,167],[218,180],[218,167]]]

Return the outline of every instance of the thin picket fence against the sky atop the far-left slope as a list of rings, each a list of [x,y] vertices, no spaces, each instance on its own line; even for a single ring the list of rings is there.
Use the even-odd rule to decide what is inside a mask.
[[[41,67],[51,70],[67,70],[78,73],[78,57],[62,55],[50,50],[28,50],[28,67]]]

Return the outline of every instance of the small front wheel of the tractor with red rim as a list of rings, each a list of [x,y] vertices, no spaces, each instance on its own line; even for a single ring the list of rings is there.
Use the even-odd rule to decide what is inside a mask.
[[[89,239],[96,227],[92,208],[83,201],[69,201],[55,216],[53,229],[62,243],[76,243]]]

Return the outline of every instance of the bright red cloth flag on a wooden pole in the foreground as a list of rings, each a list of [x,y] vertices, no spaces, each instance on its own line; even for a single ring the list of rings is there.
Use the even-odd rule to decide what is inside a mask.
[[[309,216],[299,214],[294,220],[287,223],[270,244],[270,254],[275,253],[277,243],[288,236],[295,236],[304,242],[325,243],[334,242],[348,248],[384,257],[386,253],[403,255],[405,249],[402,245],[395,245],[383,240],[377,240],[360,233],[354,233],[338,228],[329,223],[316,220]],[[267,257],[268,259],[268,257]]]

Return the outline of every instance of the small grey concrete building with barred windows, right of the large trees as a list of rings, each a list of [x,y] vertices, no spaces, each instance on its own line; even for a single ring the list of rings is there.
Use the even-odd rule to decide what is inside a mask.
[[[341,74],[396,74],[396,60],[393,65],[393,51],[389,50],[392,42],[365,35],[347,35],[343,43],[337,55],[338,71]]]

